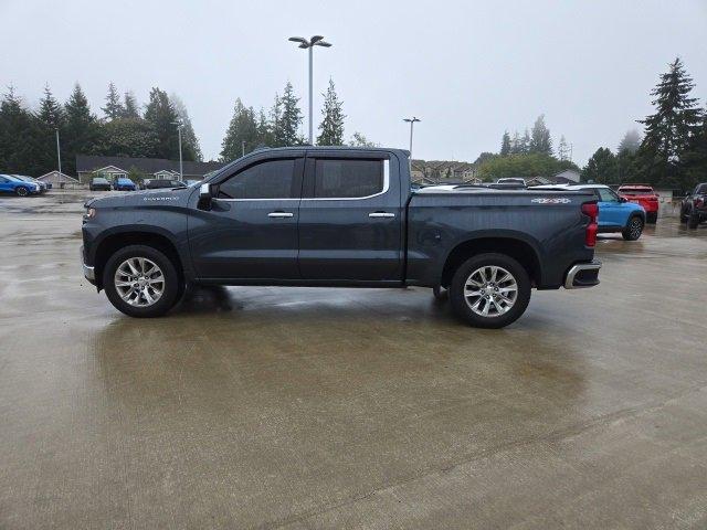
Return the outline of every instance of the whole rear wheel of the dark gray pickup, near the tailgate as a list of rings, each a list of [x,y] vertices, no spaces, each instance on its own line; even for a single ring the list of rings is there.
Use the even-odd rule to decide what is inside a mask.
[[[454,314],[475,328],[503,328],[530,301],[530,278],[505,254],[479,254],[464,262],[450,285]]]

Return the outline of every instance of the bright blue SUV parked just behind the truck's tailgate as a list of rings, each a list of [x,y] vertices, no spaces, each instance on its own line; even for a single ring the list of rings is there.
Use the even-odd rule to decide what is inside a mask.
[[[599,205],[599,232],[620,232],[624,240],[636,241],[645,226],[645,210],[629,202],[604,184],[547,184],[531,190],[585,190],[594,194]]]

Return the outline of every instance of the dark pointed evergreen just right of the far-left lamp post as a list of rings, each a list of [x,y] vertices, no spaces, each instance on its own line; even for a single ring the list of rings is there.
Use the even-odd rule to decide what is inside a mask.
[[[65,127],[62,138],[62,169],[76,172],[76,155],[91,155],[102,144],[98,119],[91,113],[88,99],[78,83],[64,105]],[[64,162],[65,161],[65,162]]]

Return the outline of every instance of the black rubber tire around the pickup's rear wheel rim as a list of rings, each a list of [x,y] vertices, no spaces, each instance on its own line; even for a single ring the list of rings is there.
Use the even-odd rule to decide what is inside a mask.
[[[495,301],[479,300],[478,298],[481,297],[476,299],[471,298],[471,300],[467,303],[465,296],[466,283],[482,267],[504,268],[511,276],[513,280],[515,280],[517,287],[516,296],[513,305],[506,310],[506,312],[500,315],[483,316],[476,312],[473,309],[473,306],[477,306],[476,310],[483,310],[487,305],[488,307],[490,307],[492,304],[494,305],[494,308],[496,308],[497,304]],[[490,285],[493,285],[493,283],[490,283]],[[498,284],[496,284],[496,287],[498,287]],[[495,290],[498,290],[498,288],[495,288]],[[516,321],[528,307],[528,303],[530,301],[530,278],[528,277],[528,273],[523,267],[523,265],[520,265],[510,256],[493,253],[479,254],[460,265],[460,267],[454,273],[449,293],[452,309],[461,320],[475,328],[503,328]],[[492,294],[492,296],[495,295]]]

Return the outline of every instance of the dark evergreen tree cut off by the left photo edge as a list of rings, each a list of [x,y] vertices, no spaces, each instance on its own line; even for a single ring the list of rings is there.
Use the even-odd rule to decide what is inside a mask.
[[[39,177],[46,171],[38,157],[38,119],[10,86],[0,102],[0,168],[7,173]]]

